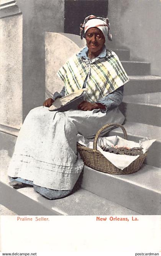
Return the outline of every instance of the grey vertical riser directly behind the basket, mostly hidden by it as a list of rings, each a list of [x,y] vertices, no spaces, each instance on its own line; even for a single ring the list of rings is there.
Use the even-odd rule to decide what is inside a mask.
[[[135,133],[135,131],[134,131]],[[118,135],[120,137],[123,137],[122,132],[111,130],[107,136],[113,136]],[[143,137],[138,137],[135,135],[128,135],[128,140],[133,140],[135,142],[139,142],[140,139],[143,139]],[[145,159],[145,164],[155,166],[158,168],[161,168],[161,141],[156,140],[150,149],[148,150],[148,155]]]

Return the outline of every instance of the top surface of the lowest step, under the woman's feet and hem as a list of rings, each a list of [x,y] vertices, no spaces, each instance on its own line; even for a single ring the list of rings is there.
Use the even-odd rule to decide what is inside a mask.
[[[8,186],[10,187],[10,186]],[[57,200],[48,200],[39,195],[32,187],[16,190],[58,215],[138,215],[118,203],[99,197],[83,188],[72,195]],[[13,188],[14,193],[14,188]],[[24,201],[25,197],[23,198]]]

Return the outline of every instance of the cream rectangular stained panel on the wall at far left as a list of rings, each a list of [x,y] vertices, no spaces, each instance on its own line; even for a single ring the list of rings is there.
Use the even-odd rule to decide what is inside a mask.
[[[19,129],[23,121],[22,15],[1,19],[0,27],[0,123]]]

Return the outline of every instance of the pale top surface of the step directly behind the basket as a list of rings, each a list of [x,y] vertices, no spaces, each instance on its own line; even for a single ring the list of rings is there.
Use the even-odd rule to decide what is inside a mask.
[[[123,126],[125,127],[128,135],[135,135],[137,137],[140,137],[140,139],[142,137],[148,137],[149,139],[156,139],[161,141],[161,127],[159,126],[152,126],[149,124],[136,122],[125,122]],[[111,132],[117,132],[119,134],[122,134],[122,130],[120,128],[113,129],[109,132],[109,135]]]

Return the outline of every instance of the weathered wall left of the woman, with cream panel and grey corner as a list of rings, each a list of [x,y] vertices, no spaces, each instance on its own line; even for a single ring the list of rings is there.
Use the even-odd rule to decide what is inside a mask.
[[[0,130],[45,100],[45,32],[64,31],[64,0],[0,2]]]

